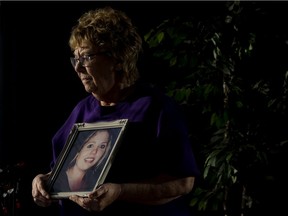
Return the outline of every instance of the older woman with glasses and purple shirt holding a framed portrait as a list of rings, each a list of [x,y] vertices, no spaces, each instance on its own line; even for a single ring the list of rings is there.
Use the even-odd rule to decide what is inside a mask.
[[[76,122],[129,120],[103,185],[88,197],[62,200],[62,215],[191,215],[187,200],[198,169],[183,117],[173,100],[139,79],[142,40],[125,13],[110,7],[84,13],[73,27],[71,63],[91,93],[54,135],[53,161]],[[39,206],[52,203],[48,174],[32,182]],[[78,204],[78,205],[75,205]]]

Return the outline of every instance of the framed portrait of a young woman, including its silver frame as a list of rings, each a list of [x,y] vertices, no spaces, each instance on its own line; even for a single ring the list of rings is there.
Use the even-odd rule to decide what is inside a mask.
[[[51,197],[87,196],[102,184],[127,123],[127,119],[119,119],[74,124],[48,180]]]

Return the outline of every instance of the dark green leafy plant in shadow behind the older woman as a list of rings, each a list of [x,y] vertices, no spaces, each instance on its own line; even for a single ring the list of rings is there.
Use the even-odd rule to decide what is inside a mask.
[[[285,42],[279,42],[283,35],[257,26],[267,16],[265,5],[219,4],[225,13],[167,19],[144,40],[165,68],[165,75],[159,72],[161,84],[182,105],[197,144],[203,175],[191,205],[243,215],[261,205],[258,187],[277,181],[271,166],[287,149],[288,137],[278,122],[287,120],[288,65],[277,72],[259,66],[266,38],[273,45]]]

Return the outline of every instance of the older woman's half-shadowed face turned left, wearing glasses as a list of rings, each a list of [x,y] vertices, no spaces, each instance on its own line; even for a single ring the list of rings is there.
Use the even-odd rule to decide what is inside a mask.
[[[86,61],[87,66],[82,66],[77,62],[74,69],[85,90],[88,93],[93,93],[99,100],[105,101],[109,94],[113,93],[113,89],[115,89],[117,84],[115,60],[105,53],[101,54],[101,50],[86,43],[81,44],[74,51],[76,59],[89,55],[91,58]]]

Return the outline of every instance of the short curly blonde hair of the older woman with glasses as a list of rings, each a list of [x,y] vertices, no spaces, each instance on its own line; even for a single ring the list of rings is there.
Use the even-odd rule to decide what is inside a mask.
[[[124,12],[104,7],[84,13],[72,28],[69,46],[74,51],[83,42],[105,49],[116,59],[121,65],[123,87],[129,87],[138,79],[142,38]]]

